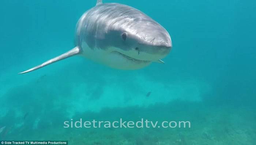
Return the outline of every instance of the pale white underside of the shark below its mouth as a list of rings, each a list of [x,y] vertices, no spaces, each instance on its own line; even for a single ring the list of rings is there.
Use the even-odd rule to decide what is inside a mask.
[[[107,65],[111,68],[132,70],[144,68],[151,64],[151,62],[133,61],[123,57],[115,51],[117,48],[109,48],[108,50],[91,49],[86,43],[82,44],[82,56],[89,58],[92,61]]]

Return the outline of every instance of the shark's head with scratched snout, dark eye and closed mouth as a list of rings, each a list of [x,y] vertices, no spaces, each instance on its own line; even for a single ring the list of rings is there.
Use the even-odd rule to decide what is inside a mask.
[[[110,33],[118,53],[142,61],[157,61],[169,54],[172,41],[169,33],[153,21],[134,22]],[[108,37],[108,36],[107,36]]]

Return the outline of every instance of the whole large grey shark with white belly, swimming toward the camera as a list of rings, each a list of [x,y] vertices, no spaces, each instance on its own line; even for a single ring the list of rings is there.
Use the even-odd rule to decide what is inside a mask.
[[[141,69],[152,62],[164,64],[161,59],[171,48],[169,33],[143,12],[128,5],[98,0],[78,20],[73,49],[19,74],[76,55],[111,68]]]

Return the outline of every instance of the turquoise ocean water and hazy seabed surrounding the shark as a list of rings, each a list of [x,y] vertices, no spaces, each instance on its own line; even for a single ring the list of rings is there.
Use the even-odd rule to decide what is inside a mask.
[[[18,75],[73,48],[76,22],[96,0],[1,0],[0,140],[256,144],[256,1],[103,3],[127,4],[165,27],[173,42],[165,64],[116,70],[72,57]],[[80,118],[189,121],[191,127],[64,128],[64,121]]]

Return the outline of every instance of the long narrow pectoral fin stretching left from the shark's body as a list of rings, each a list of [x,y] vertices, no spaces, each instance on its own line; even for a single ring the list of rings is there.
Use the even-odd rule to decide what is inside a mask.
[[[26,70],[26,71],[24,71],[24,72],[20,72],[20,73],[18,73],[18,74],[23,74],[23,73],[32,72],[33,70],[42,68],[42,67],[44,67],[44,66],[46,66],[46,65],[49,65],[49,64],[52,64],[52,63],[54,63],[54,62],[63,60],[63,59],[65,59],[65,58],[74,56],[74,55],[76,55],[76,54],[79,54],[80,52],[81,52],[81,50],[79,49],[78,46],[76,46],[75,48],[73,48],[73,49],[67,51],[66,53],[61,54],[60,56],[57,56],[57,57],[55,57],[55,58],[52,58],[52,59],[50,59],[50,60],[48,60],[48,61],[46,61],[46,62],[44,62],[44,63],[42,63],[42,64],[40,64],[40,65],[38,65],[38,66],[35,66],[34,68],[31,68],[31,69]]]

